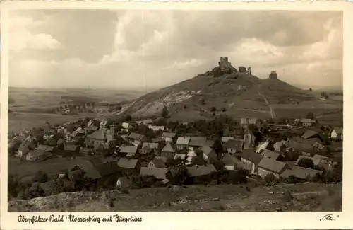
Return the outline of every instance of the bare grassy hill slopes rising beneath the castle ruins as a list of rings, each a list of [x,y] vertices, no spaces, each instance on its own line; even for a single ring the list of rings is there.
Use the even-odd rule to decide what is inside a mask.
[[[319,102],[313,93],[279,79],[259,79],[248,71],[239,73],[236,69],[215,77],[217,68],[141,96],[126,106],[124,113],[135,117],[156,115],[166,105],[174,120],[208,119],[213,116],[213,107],[217,115],[270,118],[275,116],[270,105]]]

